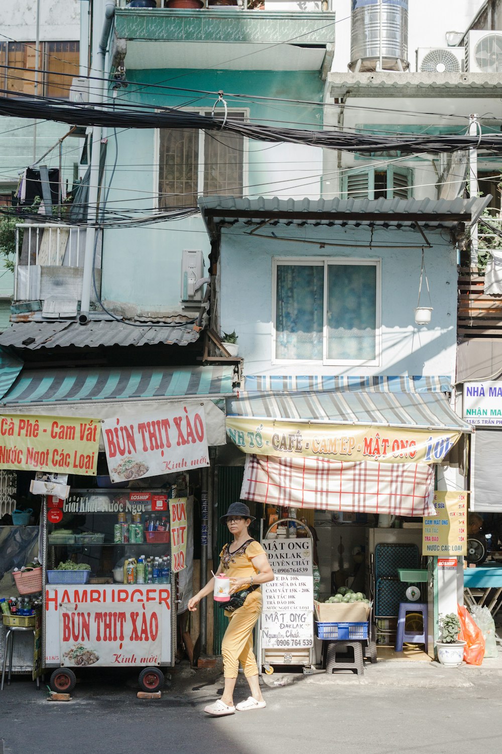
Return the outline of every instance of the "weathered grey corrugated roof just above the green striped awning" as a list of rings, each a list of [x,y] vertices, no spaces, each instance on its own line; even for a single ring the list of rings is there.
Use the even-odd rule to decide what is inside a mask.
[[[99,320],[78,322],[14,323],[0,335],[0,345],[16,348],[98,348],[112,345],[188,345],[199,332],[193,326],[131,326],[123,322]]]

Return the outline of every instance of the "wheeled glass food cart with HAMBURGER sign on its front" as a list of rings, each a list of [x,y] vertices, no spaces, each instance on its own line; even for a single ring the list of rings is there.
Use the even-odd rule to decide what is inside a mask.
[[[45,497],[42,651],[44,667],[55,669],[53,691],[71,691],[82,667],[137,667],[143,691],[163,686],[161,668],[175,658],[173,595],[186,516],[186,498],[169,499],[166,490],[71,489],[64,501]],[[147,565],[138,570],[143,557]],[[171,557],[169,574],[148,567]],[[57,568],[68,560],[75,569]]]

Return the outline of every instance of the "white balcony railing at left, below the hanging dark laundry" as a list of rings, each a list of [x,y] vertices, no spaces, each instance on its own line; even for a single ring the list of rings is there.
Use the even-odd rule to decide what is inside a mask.
[[[101,237],[96,251],[101,281]],[[57,223],[16,224],[14,301],[81,296],[86,228]]]

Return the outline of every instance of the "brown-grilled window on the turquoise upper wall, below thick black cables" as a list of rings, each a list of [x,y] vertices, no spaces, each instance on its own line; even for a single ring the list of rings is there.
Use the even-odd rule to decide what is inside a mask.
[[[211,117],[211,110],[197,109]],[[223,111],[214,112],[222,120]],[[233,120],[248,120],[248,110],[229,109]],[[242,197],[248,184],[248,139],[238,133],[184,128],[157,130],[158,206],[194,207],[202,195]]]

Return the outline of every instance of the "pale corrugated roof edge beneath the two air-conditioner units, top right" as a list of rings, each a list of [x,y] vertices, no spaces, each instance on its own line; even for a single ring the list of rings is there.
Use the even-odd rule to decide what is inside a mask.
[[[328,75],[331,97],[497,97],[499,73],[337,73]],[[406,92],[405,92],[406,90]]]

